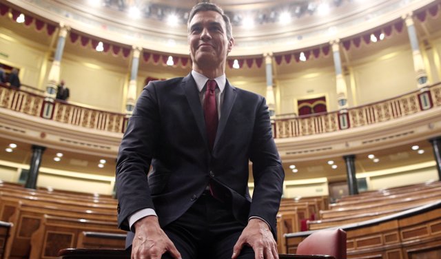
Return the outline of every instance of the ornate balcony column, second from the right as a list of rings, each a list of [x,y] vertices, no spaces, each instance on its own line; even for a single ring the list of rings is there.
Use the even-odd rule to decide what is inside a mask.
[[[331,41],[332,53],[334,56],[334,67],[336,68],[336,86],[338,110],[347,108],[347,87],[342,74],[342,61],[340,59],[340,40]]]

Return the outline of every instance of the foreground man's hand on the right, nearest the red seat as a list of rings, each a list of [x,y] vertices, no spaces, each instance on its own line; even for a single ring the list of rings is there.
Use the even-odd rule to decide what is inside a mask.
[[[234,245],[232,259],[236,259],[244,245],[253,248],[256,259],[278,259],[277,243],[267,223],[259,218],[248,221]]]

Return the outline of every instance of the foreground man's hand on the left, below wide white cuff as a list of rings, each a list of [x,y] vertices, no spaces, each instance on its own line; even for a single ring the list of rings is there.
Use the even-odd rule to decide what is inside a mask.
[[[158,217],[141,218],[134,227],[132,259],[161,259],[167,251],[173,258],[181,259],[181,253],[159,226]]]

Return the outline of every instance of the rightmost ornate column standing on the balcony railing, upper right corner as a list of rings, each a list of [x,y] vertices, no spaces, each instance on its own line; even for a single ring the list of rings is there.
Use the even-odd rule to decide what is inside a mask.
[[[420,46],[418,44],[418,37],[416,34],[415,25],[413,23],[412,14],[409,13],[402,17],[406,22],[407,33],[409,34],[409,40],[411,43],[412,54],[413,54],[413,68],[416,72],[416,81],[418,88],[425,87],[429,85],[427,81],[427,72],[424,68],[424,61],[422,60],[422,55],[420,52]]]

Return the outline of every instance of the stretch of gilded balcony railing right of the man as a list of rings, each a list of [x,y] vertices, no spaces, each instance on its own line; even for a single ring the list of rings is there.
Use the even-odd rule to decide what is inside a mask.
[[[274,138],[338,132],[401,118],[441,106],[441,83],[401,96],[347,110],[274,119]]]

